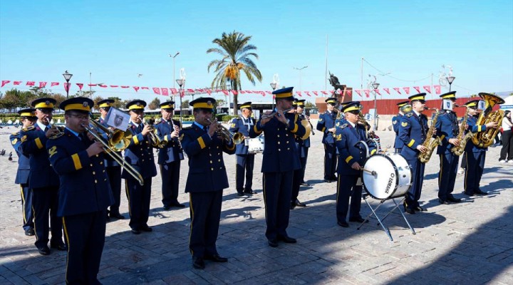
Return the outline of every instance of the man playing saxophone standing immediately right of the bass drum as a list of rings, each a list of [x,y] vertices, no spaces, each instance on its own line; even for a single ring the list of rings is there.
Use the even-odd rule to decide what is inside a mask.
[[[427,127],[427,117],[423,115],[425,110],[425,93],[411,95],[408,98],[410,99],[412,110],[405,113],[400,120],[399,138],[404,144],[400,155],[410,165],[413,176],[412,186],[406,194],[403,206],[405,212],[415,214],[415,212],[425,211],[425,208],[420,207],[418,202],[422,193],[425,163],[418,160],[418,155],[421,152],[427,151],[427,147],[423,145],[423,142],[426,140],[429,127]]]

